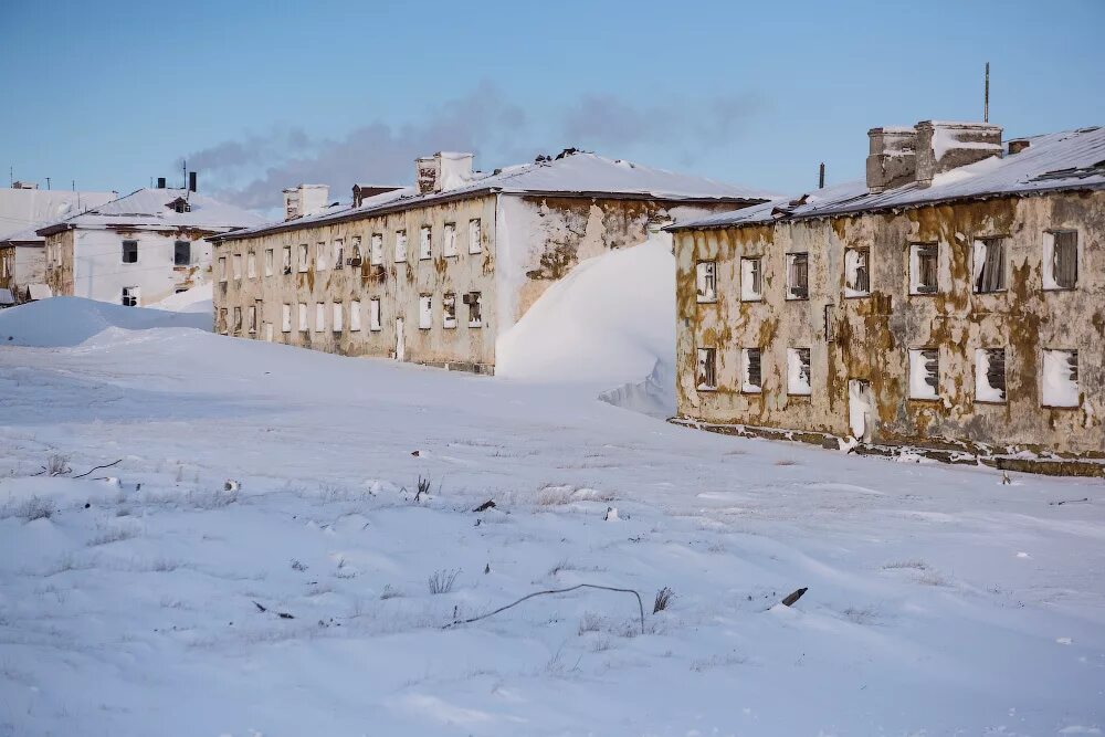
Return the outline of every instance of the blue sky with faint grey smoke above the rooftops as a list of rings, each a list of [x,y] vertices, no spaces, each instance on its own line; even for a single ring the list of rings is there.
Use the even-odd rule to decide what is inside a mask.
[[[200,170],[278,204],[578,146],[781,192],[861,177],[866,130],[1105,124],[1105,1],[0,4],[0,165],[126,191]]]

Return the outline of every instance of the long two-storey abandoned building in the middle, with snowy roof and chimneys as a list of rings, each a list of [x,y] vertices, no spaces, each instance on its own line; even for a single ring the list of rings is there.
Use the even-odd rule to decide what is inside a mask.
[[[212,239],[215,329],[490,373],[496,337],[577,262],[766,201],[573,149],[492,173],[472,158],[420,158],[414,187],[358,185],[352,206],[285,190],[286,221]]]

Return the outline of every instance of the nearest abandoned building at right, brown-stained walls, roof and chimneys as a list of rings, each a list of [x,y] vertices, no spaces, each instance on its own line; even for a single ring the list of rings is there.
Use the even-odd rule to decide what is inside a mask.
[[[677,223],[675,421],[1105,455],[1105,128],[874,128],[866,181]]]

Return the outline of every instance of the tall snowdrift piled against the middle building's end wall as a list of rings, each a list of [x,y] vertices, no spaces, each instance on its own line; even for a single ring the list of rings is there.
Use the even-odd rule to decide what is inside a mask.
[[[665,235],[581,262],[495,348],[497,376],[619,387],[602,398],[650,414],[673,403],[674,380],[664,377],[674,366],[675,257]]]

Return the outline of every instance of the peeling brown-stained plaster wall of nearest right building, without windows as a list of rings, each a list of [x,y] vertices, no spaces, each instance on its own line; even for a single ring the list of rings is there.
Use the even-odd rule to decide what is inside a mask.
[[[1044,232],[1080,232],[1077,287],[1044,291]],[[971,243],[1006,236],[1007,289],[974,294]],[[909,295],[909,244],[937,243],[938,293]],[[844,298],[844,249],[869,248],[871,295]],[[786,254],[810,254],[808,301],[787,301]],[[764,301],[740,302],[739,259],[764,257]],[[681,232],[677,402],[683,418],[849,435],[848,382],[870,382],[872,440],[1105,452],[1105,192],[998,198],[831,219]],[[697,304],[695,264],[716,260],[718,299]],[[827,340],[825,315],[830,317]],[[717,389],[695,387],[714,347]],[[762,350],[762,391],[741,393],[739,349]],[[788,347],[811,349],[810,397],[787,394]],[[975,399],[975,350],[1006,348],[1007,401]],[[908,351],[937,348],[939,400],[909,399]],[[1081,407],[1041,403],[1041,350],[1078,350]]]

